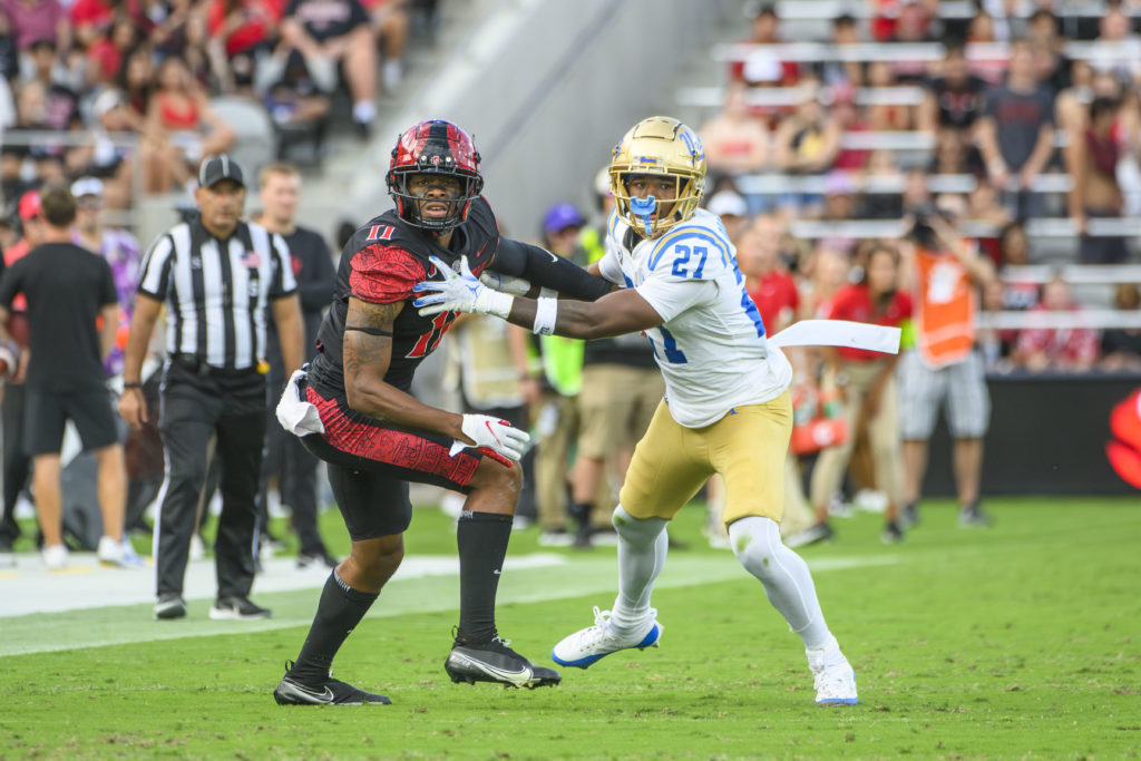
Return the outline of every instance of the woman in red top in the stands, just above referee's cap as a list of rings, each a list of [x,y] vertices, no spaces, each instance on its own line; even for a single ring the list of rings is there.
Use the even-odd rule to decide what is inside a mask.
[[[234,130],[210,107],[181,58],[163,60],[156,82],[144,126],[144,186],[149,193],[167,193],[176,185],[189,191],[191,167],[203,155],[227,151],[234,144]]]

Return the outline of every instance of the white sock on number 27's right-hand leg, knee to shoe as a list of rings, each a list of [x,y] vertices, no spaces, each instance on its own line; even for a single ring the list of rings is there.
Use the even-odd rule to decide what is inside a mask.
[[[775,520],[751,516],[729,526],[729,543],[741,565],[764,585],[772,607],[800,634],[806,648],[819,648],[834,640],[820,613],[812,575],[803,559],[780,542]]]

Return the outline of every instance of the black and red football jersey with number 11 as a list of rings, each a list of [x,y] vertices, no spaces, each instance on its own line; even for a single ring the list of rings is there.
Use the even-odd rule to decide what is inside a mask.
[[[323,395],[345,395],[342,339],[351,296],[370,303],[405,302],[393,325],[393,358],[385,381],[407,391],[416,367],[439,346],[456,317],[452,311],[421,317],[412,306],[419,296],[413,286],[438,277],[429,257],[459,269],[460,257],[466,256],[471,272],[478,275],[495,258],[499,242],[495,216],[483,197],[472,202],[468,219],[455,228],[448,249],[400,219],[395,209],[369,220],[341,251],[333,302],[317,332],[317,356],[309,382]]]

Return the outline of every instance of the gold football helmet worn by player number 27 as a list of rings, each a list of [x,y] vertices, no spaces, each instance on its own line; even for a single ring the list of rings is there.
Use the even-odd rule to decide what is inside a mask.
[[[672,200],[649,202],[630,196],[631,175],[664,175],[673,178]],[[657,237],[689,219],[705,192],[705,149],[694,130],[670,116],[650,116],[634,124],[614,147],[610,160],[610,192],[618,216],[645,237]],[[669,204],[672,204],[669,205]],[[665,205],[667,217],[650,216]]]

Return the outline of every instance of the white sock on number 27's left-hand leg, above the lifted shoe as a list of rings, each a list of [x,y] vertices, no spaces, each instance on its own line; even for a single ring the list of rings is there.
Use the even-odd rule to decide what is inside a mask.
[[[610,518],[618,533],[618,597],[610,609],[610,626],[620,633],[637,634],[649,615],[649,594],[662,573],[670,537],[663,518],[638,519],[622,509]]]

